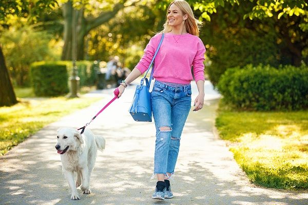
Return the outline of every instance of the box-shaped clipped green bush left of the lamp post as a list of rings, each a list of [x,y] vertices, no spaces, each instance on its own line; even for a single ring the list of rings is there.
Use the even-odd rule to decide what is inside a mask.
[[[63,62],[45,61],[30,66],[31,83],[37,96],[57,96],[68,93],[68,74]]]

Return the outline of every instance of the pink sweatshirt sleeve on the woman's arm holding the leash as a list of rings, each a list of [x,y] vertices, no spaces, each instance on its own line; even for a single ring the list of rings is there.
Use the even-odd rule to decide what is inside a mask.
[[[140,59],[139,63],[137,64],[136,68],[138,70],[140,70],[141,73],[144,73],[150,63],[151,63],[151,60],[153,59],[153,56],[155,54],[155,36],[153,36],[149,43],[147,44],[147,46],[145,47],[144,49],[144,54],[142,56],[142,58]]]

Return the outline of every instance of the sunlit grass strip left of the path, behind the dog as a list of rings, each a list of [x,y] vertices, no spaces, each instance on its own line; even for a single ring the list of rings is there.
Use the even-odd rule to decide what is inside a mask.
[[[15,90],[16,91],[16,90]],[[17,96],[21,96],[18,92]],[[23,93],[26,95],[25,92]],[[90,106],[99,98],[41,98],[21,100],[12,107],[0,108],[0,155],[24,141],[50,122],[81,108]],[[69,109],[67,109],[69,108]]]

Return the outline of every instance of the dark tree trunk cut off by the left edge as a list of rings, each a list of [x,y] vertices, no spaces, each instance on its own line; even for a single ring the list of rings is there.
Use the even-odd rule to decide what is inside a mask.
[[[16,95],[11,83],[8,69],[5,64],[0,44],[0,107],[12,106],[17,103]]]

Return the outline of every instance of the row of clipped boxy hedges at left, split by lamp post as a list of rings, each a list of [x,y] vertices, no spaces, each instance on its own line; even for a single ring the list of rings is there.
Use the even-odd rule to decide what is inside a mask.
[[[76,62],[80,86],[92,86],[97,80],[97,67],[91,61]],[[68,93],[71,61],[35,62],[30,66],[31,84],[37,96],[57,96]]]

